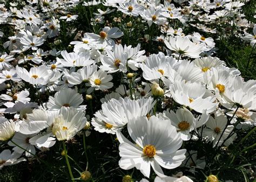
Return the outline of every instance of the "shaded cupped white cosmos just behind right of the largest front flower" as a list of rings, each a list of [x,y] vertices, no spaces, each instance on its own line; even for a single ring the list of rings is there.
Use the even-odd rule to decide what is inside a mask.
[[[181,139],[188,141],[191,138],[190,132],[207,122],[210,115],[204,111],[202,117],[195,118],[186,108],[180,108],[174,113],[172,110],[164,111],[164,117],[171,120],[171,124],[181,134]]]

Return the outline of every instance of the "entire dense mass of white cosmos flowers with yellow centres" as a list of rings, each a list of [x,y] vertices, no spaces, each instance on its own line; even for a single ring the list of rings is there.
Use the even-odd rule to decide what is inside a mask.
[[[213,148],[228,146],[236,137],[235,128],[254,127],[256,81],[244,81],[238,69],[214,57],[214,39],[205,36],[217,32],[210,28],[212,24],[242,15],[244,3],[174,2],[176,5],[146,0],[83,4],[107,6],[105,11],[93,13],[93,26],[104,24],[105,16],[113,12],[140,19],[149,29],[157,26],[160,34],[154,40],[163,47],[150,55],[141,44],[118,44],[124,32],[110,25],[98,33],[80,34],[69,48],[56,50],[52,46],[62,44],[58,39],[60,23],[79,18],[70,11],[80,5],[78,1],[24,1],[10,3],[10,8],[1,4],[0,23],[11,25],[14,32],[1,32],[1,37],[9,40],[1,46],[5,52],[0,57],[0,140],[13,146],[14,152],[2,151],[0,168],[24,161],[19,158],[23,153],[33,157],[56,141],[69,141],[85,129],[89,138],[93,130],[117,136],[122,169],[136,167],[149,178],[152,167],[158,176],[155,181],[191,181],[185,176],[166,177],[161,169],[187,164],[191,157],[181,148],[184,141],[202,139],[212,142]],[[193,24],[195,19],[202,24]],[[256,26],[251,35],[243,16],[236,21],[245,27],[242,39],[254,47]],[[180,23],[179,29],[173,29],[175,22]],[[187,24],[204,35],[186,34]],[[129,28],[132,22],[126,26],[133,30]],[[101,102],[92,102],[98,93],[102,93]],[[42,101],[42,95],[47,99]],[[85,116],[90,104],[101,109]],[[192,156],[193,166],[204,167],[204,158]]]

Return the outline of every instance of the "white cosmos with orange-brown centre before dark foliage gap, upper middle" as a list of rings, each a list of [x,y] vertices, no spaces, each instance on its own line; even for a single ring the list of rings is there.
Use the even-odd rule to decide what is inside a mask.
[[[105,26],[102,31],[99,32],[99,35],[95,33],[86,33],[86,36],[91,37],[92,39],[103,44],[104,42],[108,45],[114,46],[114,40],[112,38],[119,38],[124,35],[123,32],[119,31],[118,27]]]

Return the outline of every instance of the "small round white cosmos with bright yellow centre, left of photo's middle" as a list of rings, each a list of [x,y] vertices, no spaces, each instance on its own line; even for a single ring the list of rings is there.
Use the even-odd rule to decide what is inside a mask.
[[[96,90],[105,90],[113,87],[112,76],[99,69],[91,75],[90,83],[91,87],[95,87]]]

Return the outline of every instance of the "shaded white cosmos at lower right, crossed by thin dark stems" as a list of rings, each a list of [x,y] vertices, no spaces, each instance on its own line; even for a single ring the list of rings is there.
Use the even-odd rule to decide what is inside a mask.
[[[228,125],[227,128],[225,129],[227,124],[227,117],[223,114],[219,116],[215,116],[213,118],[210,116],[209,120],[206,123],[206,127],[203,130],[203,135],[210,141],[213,142],[213,147],[215,147],[218,143],[218,146],[222,145],[224,140],[227,138],[227,136],[231,133],[233,130],[234,126],[233,125]],[[224,131],[225,129],[225,131]],[[223,133],[223,136],[221,134]],[[220,138],[221,136],[221,138]],[[227,141],[224,143],[225,146],[230,145],[234,138],[237,136],[237,134],[232,135],[230,138],[227,139]]]

